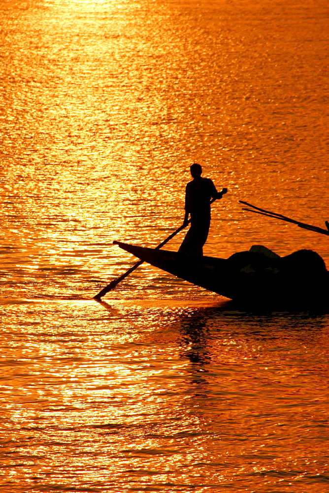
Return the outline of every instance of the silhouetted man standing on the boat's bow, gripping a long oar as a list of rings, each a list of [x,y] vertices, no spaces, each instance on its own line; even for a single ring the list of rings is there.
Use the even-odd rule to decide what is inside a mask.
[[[178,253],[203,255],[202,247],[207,241],[210,227],[210,200],[221,199],[223,193],[217,192],[210,178],[202,178],[202,168],[194,163],[191,168],[193,180],[186,185],[185,216],[183,225],[187,225],[191,216],[191,227],[179,247]],[[227,190],[226,190],[227,191]]]

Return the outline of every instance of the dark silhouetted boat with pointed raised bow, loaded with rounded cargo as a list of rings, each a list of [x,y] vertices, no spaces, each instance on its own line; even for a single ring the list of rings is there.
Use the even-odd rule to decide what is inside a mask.
[[[329,272],[312,250],[279,257],[264,246],[252,246],[223,259],[113,243],[154,267],[232,300],[303,305],[329,300]]]

